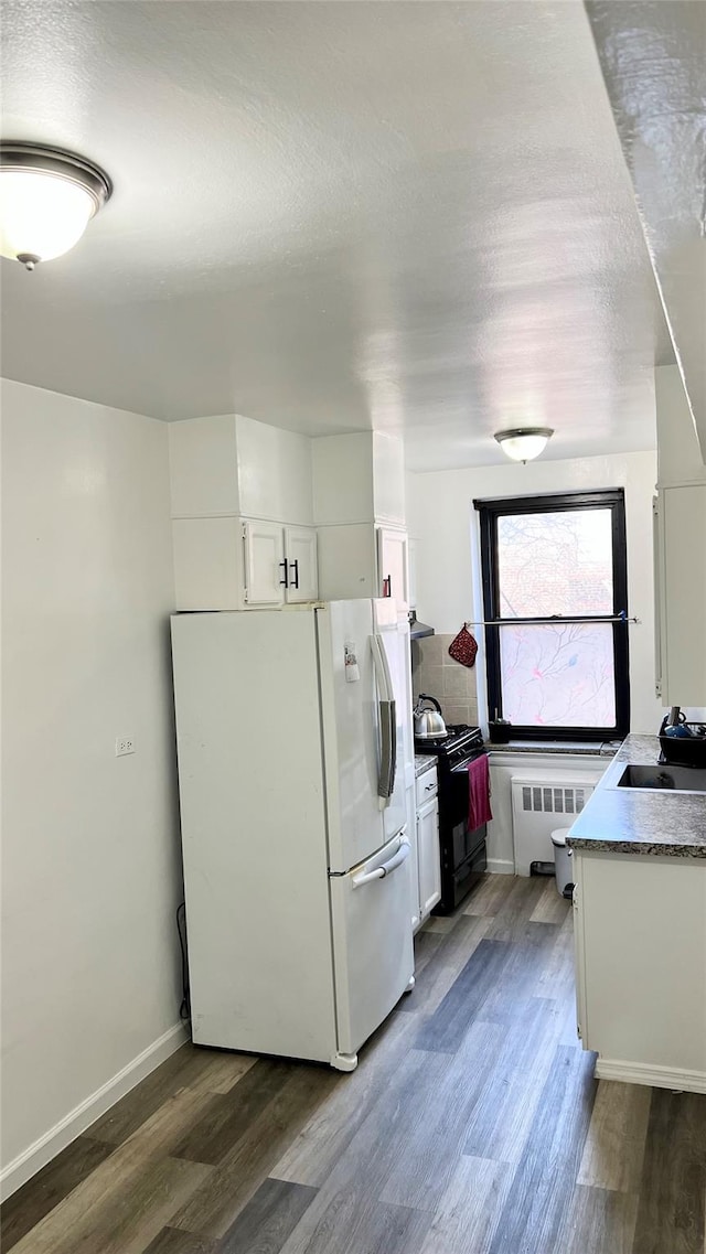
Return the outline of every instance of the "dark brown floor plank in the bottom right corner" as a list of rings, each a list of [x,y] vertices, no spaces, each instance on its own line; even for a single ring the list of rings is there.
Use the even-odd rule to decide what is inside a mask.
[[[702,1254],[706,1096],[652,1090],[632,1254]]]

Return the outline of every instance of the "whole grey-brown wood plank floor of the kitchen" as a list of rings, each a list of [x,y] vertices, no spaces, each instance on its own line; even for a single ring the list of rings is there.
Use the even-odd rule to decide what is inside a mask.
[[[492,875],[351,1076],[184,1046],[3,1210],[15,1254],[703,1254],[706,1097],[592,1078],[572,919]]]

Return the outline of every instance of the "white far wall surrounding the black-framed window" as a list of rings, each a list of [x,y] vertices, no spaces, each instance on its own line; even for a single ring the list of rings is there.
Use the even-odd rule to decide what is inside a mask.
[[[624,488],[628,608],[641,619],[640,626],[630,628],[631,730],[656,732],[662,717],[653,695],[652,498],[656,478],[657,455],[653,451],[572,461],[539,460],[528,465],[508,461],[507,465],[410,474],[408,525],[416,539],[418,617],[439,632],[456,632],[464,619],[483,618],[472,571],[472,553],[478,571],[474,498]]]

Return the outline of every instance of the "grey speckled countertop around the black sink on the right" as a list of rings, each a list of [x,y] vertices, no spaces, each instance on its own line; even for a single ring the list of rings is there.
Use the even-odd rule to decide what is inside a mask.
[[[617,788],[626,766],[655,766],[657,736],[628,736],[574,820],[567,844],[618,854],[706,858],[706,793]]]

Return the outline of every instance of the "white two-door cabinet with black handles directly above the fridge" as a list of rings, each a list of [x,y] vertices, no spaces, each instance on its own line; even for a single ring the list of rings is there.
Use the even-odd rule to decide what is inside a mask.
[[[177,609],[316,601],[316,529],[247,518],[176,518]]]

